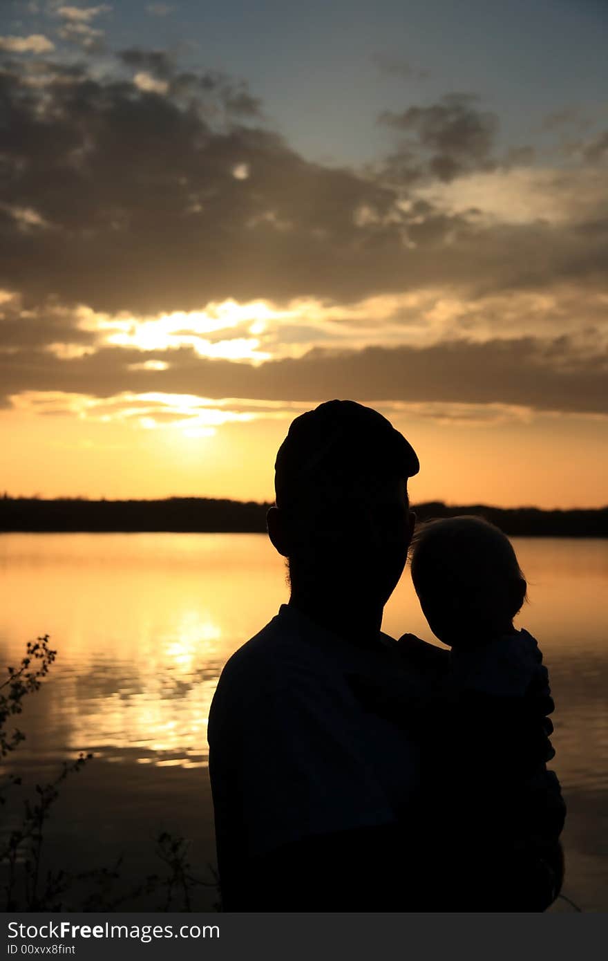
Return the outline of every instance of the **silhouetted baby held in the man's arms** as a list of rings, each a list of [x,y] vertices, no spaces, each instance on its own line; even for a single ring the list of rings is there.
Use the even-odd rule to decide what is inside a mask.
[[[451,649],[444,693],[418,718],[423,808],[436,817],[450,811],[463,856],[467,825],[478,836],[481,821],[490,848],[501,837],[514,865],[529,855],[530,871],[547,869],[558,889],[565,805],[547,771],[554,705],[535,639],[513,626],[527,589],[515,551],[478,517],[431,521],[415,535],[411,575],[431,630]],[[404,635],[399,643],[407,655],[421,642]]]

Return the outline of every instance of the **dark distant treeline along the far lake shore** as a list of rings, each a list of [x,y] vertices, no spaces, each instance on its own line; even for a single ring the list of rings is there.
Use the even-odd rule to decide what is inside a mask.
[[[269,504],[170,497],[163,501],[87,501],[0,498],[0,531],[199,531],[256,533],[266,530]],[[414,505],[419,520],[477,514],[500,530],[524,537],[608,537],[608,507],[541,510],[486,505]]]

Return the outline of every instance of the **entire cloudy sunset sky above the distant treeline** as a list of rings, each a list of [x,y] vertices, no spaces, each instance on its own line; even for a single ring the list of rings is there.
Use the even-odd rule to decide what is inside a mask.
[[[0,488],[608,503],[605,0],[0,0]],[[0,491],[1,492],[1,491]]]

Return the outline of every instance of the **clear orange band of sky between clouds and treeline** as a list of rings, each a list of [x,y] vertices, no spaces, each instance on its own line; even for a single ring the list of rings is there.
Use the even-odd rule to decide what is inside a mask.
[[[606,502],[608,446],[601,422],[546,414],[470,426],[378,406],[414,444],[421,472],[412,501],[500,506],[599,506]],[[229,423],[210,436],[173,424],[0,414],[0,470],[12,494],[162,498],[273,498],[273,467],[290,412]],[[294,411],[295,413],[295,411]]]

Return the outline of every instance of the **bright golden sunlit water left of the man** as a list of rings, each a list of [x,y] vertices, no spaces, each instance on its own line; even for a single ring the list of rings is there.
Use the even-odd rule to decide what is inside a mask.
[[[28,704],[20,750],[50,758],[201,765],[230,653],[276,611],[282,562],[255,536],[5,535],[0,647],[51,634],[52,683]]]

